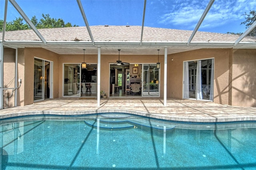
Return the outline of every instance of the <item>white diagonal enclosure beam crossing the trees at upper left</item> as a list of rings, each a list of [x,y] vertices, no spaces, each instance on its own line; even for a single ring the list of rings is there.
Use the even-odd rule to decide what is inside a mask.
[[[32,28],[32,30],[36,33],[36,35],[40,38],[40,40],[44,43],[44,45],[46,45],[46,40],[44,39],[44,37],[42,36],[42,34],[36,29],[36,27],[34,26],[34,24],[30,21],[30,19],[28,18],[28,16],[24,13],[24,11],[20,8],[20,6],[17,4],[17,2],[15,0],[9,0],[10,3],[14,6],[14,8],[20,13],[20,15],[22,16],[22,18],[28,23],[28,25],[30,26],[30,28]]]

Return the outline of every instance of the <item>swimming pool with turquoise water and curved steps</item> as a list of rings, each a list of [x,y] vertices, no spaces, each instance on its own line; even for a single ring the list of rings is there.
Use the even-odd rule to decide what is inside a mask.
[[[256,168],[255,122],[181,123],[106,113],[0,124],[6,170]]]

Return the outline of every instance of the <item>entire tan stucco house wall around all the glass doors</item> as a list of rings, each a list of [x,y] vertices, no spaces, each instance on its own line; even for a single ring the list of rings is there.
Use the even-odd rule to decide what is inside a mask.
[[[256,50],[198,49],[170,54],[167,58],[167,98],[182,99],[183,61],[214,58],[214,103],[234,106],[256,106]],[[18,78],[22,86],[17,91],[18,105],[33,103],[34,57],[53,61],[53,98],[62,97],[63,63],[81,63],[84,55],[59,55],[42,48],[18,49]],[[100,90],[109,93],[109,63],[117,55],[101,55]],[[156,63],[158,55],[120,55],[128,63]],[[98,63],[98,55],[85,55],[86,63]],[[164,97],[164,55],[159,55],[160,97]],[[15,49],[4,48],[4,86],[14,87]],[[26,67],[25,67],[26,66]],[[132,72],[132,64],[130,71]],[[138,71],[141,72],[140,70]],[[134,76],[135,74],[133,74]],[[10,105],[14,105],[14,97]]]

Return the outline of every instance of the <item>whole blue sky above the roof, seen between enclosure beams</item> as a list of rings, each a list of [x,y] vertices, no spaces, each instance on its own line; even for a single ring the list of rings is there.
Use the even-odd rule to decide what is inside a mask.
[[[16,0],[28,18],[50,14],[72,25],[85,26],[76,0]],[[94,25],[141,26],[144,0],[81,0],[88,23]],[[209,0],[147,0],[144,26],[194,30]],[[4,19],[0,0],[0,19]],[[215,0],[199,31],[244,32],[242,14],[256,9],[255,0]],[[20,14],[8,2],[7,21]]]

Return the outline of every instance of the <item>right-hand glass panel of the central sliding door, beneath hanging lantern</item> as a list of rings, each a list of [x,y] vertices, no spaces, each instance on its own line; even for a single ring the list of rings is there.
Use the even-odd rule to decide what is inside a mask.
[[[142,96],[160,96],[159,69],[156,64],[143,64]]]

